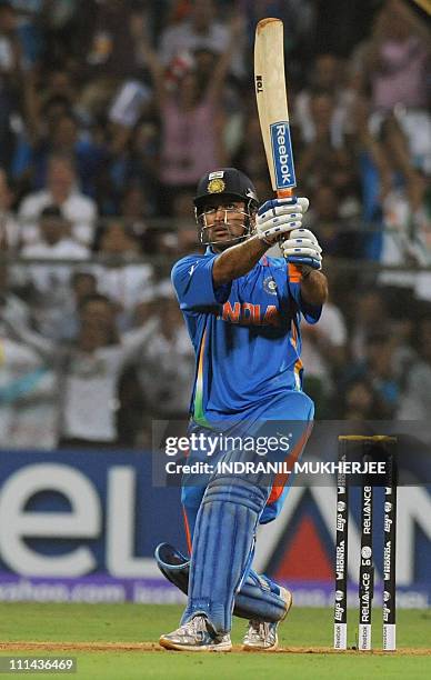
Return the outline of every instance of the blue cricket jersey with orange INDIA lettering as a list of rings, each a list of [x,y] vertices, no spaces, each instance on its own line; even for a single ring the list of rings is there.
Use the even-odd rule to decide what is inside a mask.
[[[216,258],[208,248],[172,269],[197,357],[191,416],[202,426],[259,417],[274,399],[301,391],[301,314],[315,323],[321,313],[301,299],[283,258],[263,256],[245,276],[214,287]]]

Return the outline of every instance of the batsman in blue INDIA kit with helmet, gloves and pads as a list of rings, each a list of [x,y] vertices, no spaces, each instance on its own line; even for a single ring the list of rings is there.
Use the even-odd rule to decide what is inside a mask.
[[[207,250],[172,270],[197,357],[189,432],[259,433],[277,422],[280,434],[285,423],[293,432],[291,462],[301,456],[314,412],[302,391],[300,323],[315,323],[328,296],[321,248],[302,227],[308,206],[308,199],[292,197],[259,208],[242,172],[208,172],[194,198]],[[283,257],[267,256],[275,243]],[[193,456],[199,459],[199,452]],[[224,460],[242,456],[241,450],[220,454]],[[279,514],[290,481],[273,476],[263,483],[217,470],[206,483],[183,479],[190,560],[167,543],[157,548],[156,558],[188,603],[180,627],[161,636],[162,647],[229,651],[234,613],[249,619],[243,649],[277,648],[277,629],[292,596],[258,574],[252,558],[257,527]]]

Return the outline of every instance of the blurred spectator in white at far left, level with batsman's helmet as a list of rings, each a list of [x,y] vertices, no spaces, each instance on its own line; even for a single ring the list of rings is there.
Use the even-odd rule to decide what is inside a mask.
[[[47,206],[57,206],[71,224],[71,237],[84,247],[93,240],[97,206],[77,189],[73,162],[69,157],[51,156],[47,187],[27,196],[19,209],[22,238],[27,244],[38,241],[37,219]]]

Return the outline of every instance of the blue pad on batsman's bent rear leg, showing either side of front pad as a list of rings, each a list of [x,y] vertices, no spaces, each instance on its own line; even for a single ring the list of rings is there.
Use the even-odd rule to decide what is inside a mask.
[[[162,574],[184,594],[189,592],[190,560],[169,543],[160,543],[154,557]],[[249,571],[244,583],[237,592],[233,614],[241,619],[281,621],[285,614],[285,602],[280,588],[265,576]]]

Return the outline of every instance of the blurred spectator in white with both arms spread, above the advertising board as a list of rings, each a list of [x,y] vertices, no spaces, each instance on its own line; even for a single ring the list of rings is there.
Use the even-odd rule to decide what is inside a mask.
[[[79,334],[70,347],[58,348],[42,336],[16,328],[22,342],[48,366],[58,367],[61,446],[99,448],[117,443],[118,380],[141,352],[153,326],[150,320],[120,338],[114,306],[97,294],[82,301]]]

